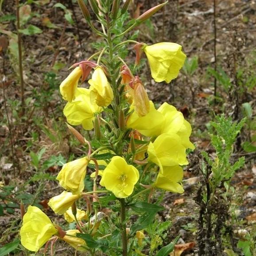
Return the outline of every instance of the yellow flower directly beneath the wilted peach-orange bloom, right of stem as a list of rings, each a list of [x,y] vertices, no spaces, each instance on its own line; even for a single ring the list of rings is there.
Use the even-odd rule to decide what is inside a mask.
[[[146,116],[139,116],[136,111],[132,112],[129,116],[126,126],[138,130],[144,136],[157,136],[160,134],[164,117],[162,113],[155,109],[152,101],[150,103],[150,109]],[[131,110],[134,109],[131,106]]]

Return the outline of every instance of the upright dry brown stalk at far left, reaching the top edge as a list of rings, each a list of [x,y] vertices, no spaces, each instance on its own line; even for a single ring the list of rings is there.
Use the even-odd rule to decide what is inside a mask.
[[[19,80],[21,90],[21,116],[25,113],[25,101],[24,101],[24,81],[23,81],[23,66],[22,66],[22,50],[21,50],[21,36],[19,33],[19,0],[16,0],[16,18],[17,18],[17,35],[18,35],[18,50],[19,50]]]

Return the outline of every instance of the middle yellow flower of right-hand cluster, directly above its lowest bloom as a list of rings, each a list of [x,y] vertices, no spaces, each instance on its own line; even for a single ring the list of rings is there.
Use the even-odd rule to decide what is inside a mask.
[[[148,160],[156,163],[160,170],[163,166],[188,164],[186,148],[182,146],[181,139],[176,134],[163,133],[147,148]]]

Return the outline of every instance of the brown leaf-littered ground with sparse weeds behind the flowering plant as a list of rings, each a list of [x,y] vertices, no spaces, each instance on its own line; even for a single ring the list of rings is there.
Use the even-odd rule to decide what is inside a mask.
[[[71,1],[62,1],[72,14],[73,25],[65,20],[65,10],[54,8],[58,1],[37,2],[39,4],[30,4],[31,12],[24,9],[24,19],[26,14],[32,18],[27,23],[24,20],[24,25],[21,24],[24,27],[32,24],[42,30],[35,35],[22,35],[26,99],[24,116],[21,115],[18,61],[15,55],[17,49],[13,43],[13,33],[16,33],[15,5],[11,1],[3,1],[1,10],[0,189],[2,186],[5,192],[6,189],[12,191],[6,198],[1,195],[1,205],[4,207],[4,213],[0,211],[2,245],[17,237],[20,199],[25,203],[39,203],[47,208],[47,200],[57,194],[57,190],[61,191],[52,177],[58,174],[62,160],[81,155],[79,144],[66,129],[62,113],[65,103],[61,99],[58,86],[69,74],[68,68],[71,65],[93,54],[92,43],[99,40],[90,31],[76,1],[73,4]],[[133,11],[130,10],[130,13],[136,17],[138,13],[162,1],[134,2]],[[255,11],[254,1],[216,0],[216,62],[229,75],[233,84],[236,84],[234,73],[238,69],[247,77],[255,76]],[[213,101],[214,78],[207,71],[209,67],[214,68],[213,12],[213,0],[170,0],[163,11],[155,14],[150,22],[136,28],[140,31],[136,39],[139,42],[179,43],[188,58],[198,57],[198,68],[192,76],[182,71],[170,84],[155,83],[146,65],[140,74],[150,99],[159,104],[167,101],[175,105],[193,128],[191,140],[196,149],[190,154],[190,166],[186,168],[184,175],[185,193],[167,193],[163,201],[166,211],[160,216],[173,221],[168,237],[174,239],[177,234],[181,234],[181,244],[196,241],[198,205],[193,198],[202,181],[202,175],[195,171],[194,166],[200,164],[200,151],[214,155],[208,135],[208,124],[214,118],[213,113],[225,112],[233,120],[240,120],[244,117],[242,104],[249,102],[252,116],[255,116],[255,86],[243,92],[237,88],[227,91],[225,85],[217,81],[218,101]],[[135,55],[133,49],[130,50],[132,52],[128,62]],[[78,129],[83,132],[81,128]],[[237,232],[244,229],[252,232],[248,216],[255,214],[256,209],[256,153],[246,152],[241,147],[248,140],[250,132],[252,131],[244,128],[239,136],[240,143],[237,143],[233,154],[233,161],[239,156],[245,156],[246,159],[245,166],[237,171],[231,182],[234,191],[231,198],[232,208],[239,223],[234,226]],[[57,219],[50,209],[45,210],[48,215]],[[182,256],[197,255],[196,248],[197,245],[193,246],[183,252]],[[68,250],[59,245],[55,255],[68,255]]]

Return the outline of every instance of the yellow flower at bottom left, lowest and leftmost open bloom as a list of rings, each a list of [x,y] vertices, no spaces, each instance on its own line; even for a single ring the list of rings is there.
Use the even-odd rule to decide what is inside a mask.
[[[20,229],[20,241],[25,248],[37,252],[57,233],[57,229],[45,213],[35,206],[28,206]]]

